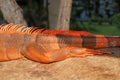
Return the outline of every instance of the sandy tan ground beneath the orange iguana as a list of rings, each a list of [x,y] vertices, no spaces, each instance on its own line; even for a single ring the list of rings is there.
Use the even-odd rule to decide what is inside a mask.
[[[113,54],[69,58],[51,64],[25,58],[0,62],[0,80],[120,80],[120,48],[104,50]]]

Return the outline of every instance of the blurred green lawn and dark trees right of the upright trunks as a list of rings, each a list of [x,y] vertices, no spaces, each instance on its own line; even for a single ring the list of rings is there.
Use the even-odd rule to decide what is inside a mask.
[[[120,0],[73,0],[70,28],[120,35]]]

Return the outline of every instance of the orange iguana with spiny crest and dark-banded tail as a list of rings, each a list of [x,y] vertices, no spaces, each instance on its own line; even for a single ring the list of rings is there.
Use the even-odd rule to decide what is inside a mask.
[[[85,31],[46,30],[20,24],[0,25],[0,61],[28,58],[41,63],[70,57],[111,54],[97,48],[119,47],[120,36]]]

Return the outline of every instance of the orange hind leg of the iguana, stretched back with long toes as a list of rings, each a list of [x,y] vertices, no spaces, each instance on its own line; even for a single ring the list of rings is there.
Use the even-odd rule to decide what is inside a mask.
[[[110,54],[107,51],[99,51],[87,48],[77,48],[77,47],[66,47],[61,49],[55,49],[47,51],[41,49],[39,45],[29,45],[24,48],[22,54],[33,61],[42,63],[51,63],[56,61],[61,61],[70,57],[83,57],[90,56],[93,54]]]

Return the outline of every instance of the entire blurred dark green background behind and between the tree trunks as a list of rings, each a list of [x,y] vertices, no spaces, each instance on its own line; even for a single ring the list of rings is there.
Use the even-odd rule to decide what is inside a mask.
[[[47,0],[16,0],[29,26],[48,26]],[[46,1],[46,3],[45,3]],[[0,24],[5,20],[0,13]],[[120,35],[120,0],[73,0],[70,29]]]

